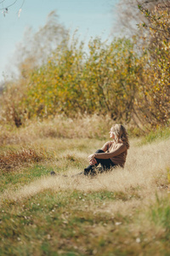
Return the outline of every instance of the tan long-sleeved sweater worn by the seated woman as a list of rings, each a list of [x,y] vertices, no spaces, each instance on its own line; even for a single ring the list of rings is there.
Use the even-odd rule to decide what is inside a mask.
[[[127,159],[127,146],[125,143],[110,141],[101,148],[105,153],[95,154],[98,159],[111,159],[116,166],[124,167]]]

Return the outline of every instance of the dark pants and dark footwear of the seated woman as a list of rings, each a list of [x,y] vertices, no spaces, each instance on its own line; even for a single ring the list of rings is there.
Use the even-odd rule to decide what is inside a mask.
[[[98,149],[95,153],[105,153],[105,151]],[[97,164],[95,164],[94,166],[88,166],[87,168],[84,169],[84,175],[94,175],[96,173],[96,166],[98,166],[99,164],[101,165],[101,168],[99,169],[99,172],[105,172],[110,170],[111,168],[113,168],[114,166],[116,166],[111,159],[98,159],[97,160]]]

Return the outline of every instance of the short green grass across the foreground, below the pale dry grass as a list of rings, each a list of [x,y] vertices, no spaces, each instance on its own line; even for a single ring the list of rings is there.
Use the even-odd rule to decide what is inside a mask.
[[[138,212],[127,217],[117,213],[113,217],[86,207],[92,202],[101,207],[111,200],[118,199],[108,191],[84,195],[78,191],[47,190],[29,200],[6,202],[1,211],[0,255],[149,255],[157,249],[163,255],[170,253],[169,229],[161,237],[156,230],[147,234],[132,229],[139,222]],[[166,208],[169,207],[168,202]],[[158,208],[153,206],[148,218],[167,227],[169,210]]]

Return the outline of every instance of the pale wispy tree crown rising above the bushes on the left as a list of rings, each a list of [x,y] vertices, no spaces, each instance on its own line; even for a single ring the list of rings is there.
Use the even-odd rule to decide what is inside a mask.
[[[37,32],[32,28],[26,29],[23,41],[18,44],[15,53],[17,66],[23,77],[34,67],[39,67],[53,53],[61,41],[67,38],[68,32],[64,26],[59,24],[59,16],[52,11],[44,26]]]

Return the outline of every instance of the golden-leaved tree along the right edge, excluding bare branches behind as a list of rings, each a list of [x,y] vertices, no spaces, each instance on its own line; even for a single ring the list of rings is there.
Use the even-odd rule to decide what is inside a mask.
[[[156,4],[149,11],[139,5],[147,22],[140,27],[147,31],[145,75],[140,88],[139,106],[151,125],[166,125],[170,119],[170,1]]]

